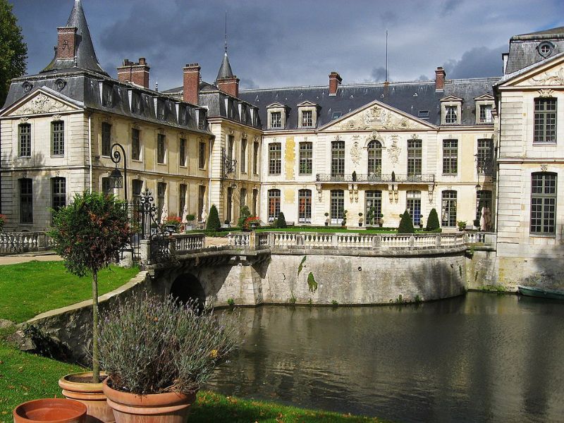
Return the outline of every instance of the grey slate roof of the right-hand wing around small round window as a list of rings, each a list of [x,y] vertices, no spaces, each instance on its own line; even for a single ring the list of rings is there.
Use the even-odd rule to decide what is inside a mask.
[[[541,56],[538,51],[541,42],[550,42],[553,45],[551,54]],[[556,56],[564,51],[564,27],[552,28],[529,34],[515,35],[509,40],[509,53],[505,74],[514,73],[522,68]]]

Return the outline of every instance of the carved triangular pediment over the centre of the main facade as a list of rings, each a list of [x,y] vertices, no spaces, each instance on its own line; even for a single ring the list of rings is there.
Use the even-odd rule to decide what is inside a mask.
[[[376,104],[336,123],[333,128],[377,131],[424,128],[424,125]]]

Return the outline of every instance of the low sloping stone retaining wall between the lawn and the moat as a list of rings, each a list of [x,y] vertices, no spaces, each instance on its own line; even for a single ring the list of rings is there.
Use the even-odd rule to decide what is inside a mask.
[[[146,271],[141,271],[128,283],[99,297],[99,310],[114,307],[118,301],[140,295],[143,290],[149,290],[151,279]],[[62,343],[71,352],[71,358],[81,364],[90,362],[89,351],[92,344],[92,300],[86,300],[54,309],[37,315],[27,321],[44,335],[54,341]]]

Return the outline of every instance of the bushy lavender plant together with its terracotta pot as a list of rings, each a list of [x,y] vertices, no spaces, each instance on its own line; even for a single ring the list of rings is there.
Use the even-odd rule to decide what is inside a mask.
[[[185,422],[200,384],[235,348],[228,314],[145,294],[108,310],[100,324],[104,393],[116,422]]]

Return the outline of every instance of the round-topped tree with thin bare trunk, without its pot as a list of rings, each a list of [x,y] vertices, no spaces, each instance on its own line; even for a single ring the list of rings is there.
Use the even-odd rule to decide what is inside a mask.
[[[129,242],[125,203],[100,192],[77,193],[71,204],[53,212],[49,236],[66,269],[82,277],[92,274],[92,381],[99,381],[98,271],[116,260]]]

